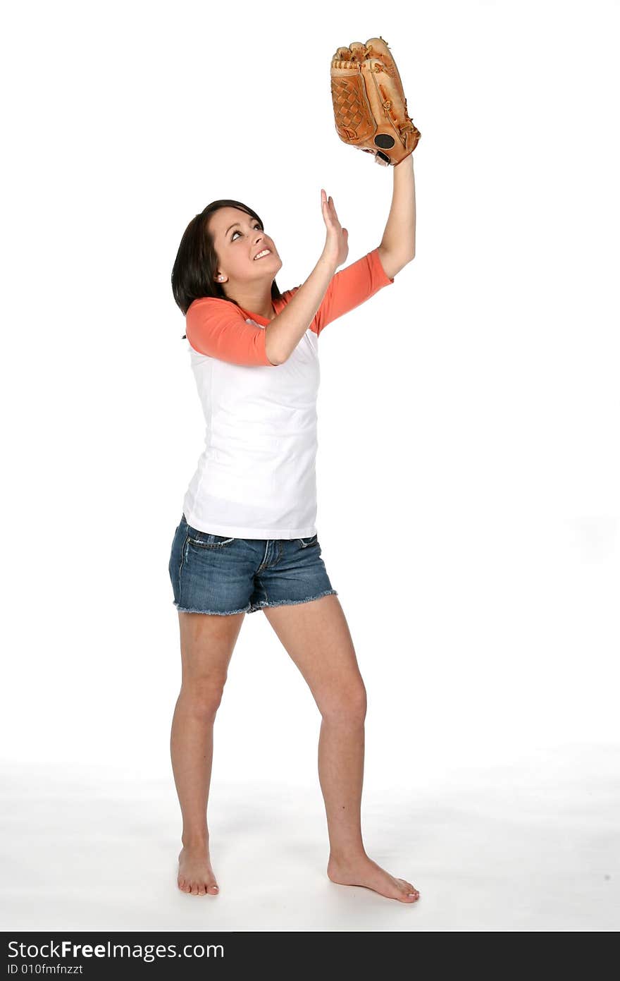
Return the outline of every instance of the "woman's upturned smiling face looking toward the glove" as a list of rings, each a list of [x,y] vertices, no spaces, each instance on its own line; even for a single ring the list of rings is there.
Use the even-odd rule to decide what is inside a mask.
[[[218,208],[209,221],[217,256],[219,284],[266,281],[271,284],[282,262],[273,239],[262,231],[260,223],[240,208]],[[268,253],[255,258],[264,249]]]

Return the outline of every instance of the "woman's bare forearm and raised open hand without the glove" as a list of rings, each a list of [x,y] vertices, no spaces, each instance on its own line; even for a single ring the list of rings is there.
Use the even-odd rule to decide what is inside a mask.
[[[282,364],[293,353],[308,331],[334,273],[349,254],[349,232],[341,227],[333,199],[327,199],[322,188],[321,210],[326,236],[320,259],[306,282],[264,329],[265,351],[272,364]]]

